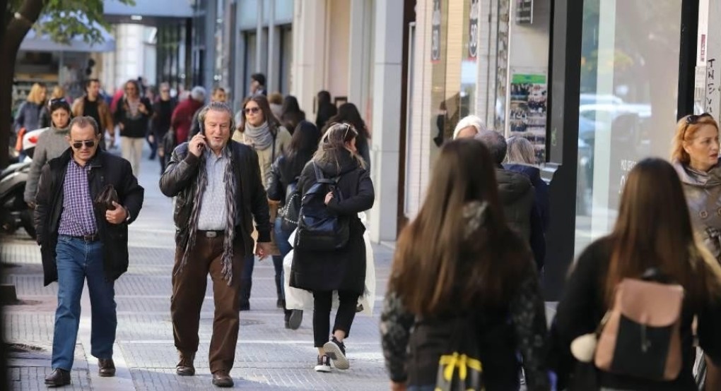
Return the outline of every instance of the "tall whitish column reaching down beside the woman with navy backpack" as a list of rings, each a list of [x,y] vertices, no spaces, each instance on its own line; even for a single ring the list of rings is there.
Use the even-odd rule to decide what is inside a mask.
[[[394,241],[398,215],[398,166],[402,95],[403,1],[375,1],[372,178],[376,205],[371,240]],[[382,168],[382,169],[381,169]]]

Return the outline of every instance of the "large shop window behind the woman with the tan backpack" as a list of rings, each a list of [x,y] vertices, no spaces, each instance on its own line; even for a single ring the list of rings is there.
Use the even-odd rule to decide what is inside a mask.
[[[628,172],[668,158],[676,125],[681,0],[586,0],[576,252],[613,228]]]

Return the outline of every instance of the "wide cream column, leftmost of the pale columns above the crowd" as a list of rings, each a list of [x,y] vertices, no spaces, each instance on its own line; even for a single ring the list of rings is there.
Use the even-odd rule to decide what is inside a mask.
[[[327,0],[296,1],[293,10],[290,91],[306,112],[313,112],[315,96],[323,88],[327,63],[327,11]]]

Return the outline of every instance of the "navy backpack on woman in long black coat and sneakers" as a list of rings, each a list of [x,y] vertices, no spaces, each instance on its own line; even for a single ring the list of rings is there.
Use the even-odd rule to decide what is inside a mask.
[[[301,199],[301,211],[298,216],[295,246],[302,251],[335,251],[348,244],[350,230],[348,218],[336,215],[325,205],[325,196],[333,192],[341,201],[342,194],[337,189],[340,176],[325,178],[315,162],[312,163],[316,183],[306,190]]]

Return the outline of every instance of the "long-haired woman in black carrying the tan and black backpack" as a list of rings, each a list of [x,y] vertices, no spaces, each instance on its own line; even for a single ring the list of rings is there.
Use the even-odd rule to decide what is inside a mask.
[[[637,163],[624,186],[614,230],[579,256],[555,320],[559,351],[568,359],[571,342],[594,333],[613,307],[619,282],[640,279],[649,269],[656,269],[663,279],[684,288],[680,374],[665,382],[597,368],[582,371],[583,364],[574,364],[569,390],[589,390],[589,382],[602,390],[696,390],[691,372],[694,318],[699,345],[712,361],[721,363],[721,266],[694,237],[685,204],[684,189],[670,163],[658,158]],[[561,369],[559,378],[566,377]]]

